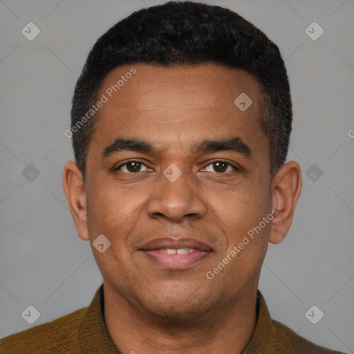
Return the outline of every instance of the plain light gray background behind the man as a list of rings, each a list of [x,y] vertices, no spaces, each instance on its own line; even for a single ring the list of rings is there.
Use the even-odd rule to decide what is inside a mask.
[[[0,337],[87,306],[102,282],[62,187],[73,159],[64,136],[71,97],[95,40],[133,10],[162,2],[0,1]],[[269,247],[259,288],[274,319],[353,353],[353,0],[209,3],[261,28],[290,77],[288,160],[301,165],[303,192],[288,236]],[[41,30],[32,41],[21,33],[30,21]],[[316,41],[305,32],[313,21],[324,29]],[[29,164],[40,173],[32,181],[22,174]],[[311,169],[306,175],[313,164],[324,172],[317,180]],[[29,305],[40,313],[32,325],[21,317]],[[313,305],[324,313],[317,324],[305,317]]]

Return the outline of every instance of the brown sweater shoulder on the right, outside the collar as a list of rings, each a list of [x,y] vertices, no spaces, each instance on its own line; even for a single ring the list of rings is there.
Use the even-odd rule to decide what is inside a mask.
[[[280,352],[286,350],[286,348],[292,348],[291,353],[343,354],[339,351],[332,351],[328,348],[324,348],[323,346],[317,346],[304,337],[300,337],[290,328],[275,321],[274,319],[272,319],[272,322],[274,324],[275,335],[277,337],[277,346],[279,347]]]

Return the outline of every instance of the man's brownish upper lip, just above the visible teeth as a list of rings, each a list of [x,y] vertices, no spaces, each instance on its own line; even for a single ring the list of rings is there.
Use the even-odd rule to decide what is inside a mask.
[[[162,237],[160,239],[153,239],[147,241],[141,246],[141,250],[161,250],[164,248],[178,249],[178,248],[194,248],[202,251],[212,251],[205,243],[195,239],[171,239],[170,237]]]

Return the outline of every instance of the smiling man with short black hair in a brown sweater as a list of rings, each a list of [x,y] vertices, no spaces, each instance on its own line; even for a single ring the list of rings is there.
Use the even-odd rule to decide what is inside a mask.
[[[301,171],[279,50],[236,13],[169,2],[91,50],[63,183],[103,284],[0,353],[338,353],[272,321],[257,290]]]

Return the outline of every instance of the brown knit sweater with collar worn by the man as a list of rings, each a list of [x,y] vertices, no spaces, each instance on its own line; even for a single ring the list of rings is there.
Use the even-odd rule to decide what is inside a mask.
[[[87,308],[53,322],[35,326],[0,339],[0,354],[120,354],[104,325],[103,285]],[[334,354],[299,337],[283,324],[270,318],[265,301],[257,295],[257,325],[242,354]]]

